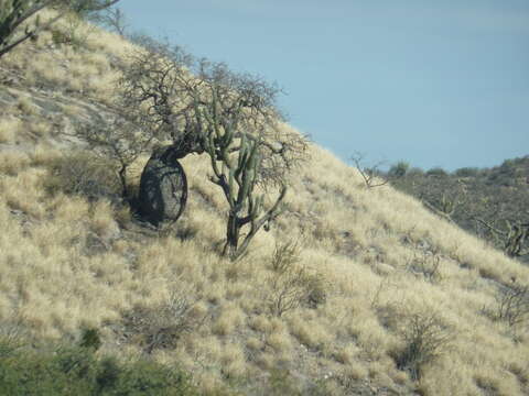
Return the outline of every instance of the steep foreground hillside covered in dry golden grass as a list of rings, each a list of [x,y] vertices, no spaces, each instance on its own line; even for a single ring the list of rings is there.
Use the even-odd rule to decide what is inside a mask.
[[[116,175],[71,132],[109,111],[132,44],[68,32],[0,61],[4,333],[74,342],[97,328],[100,354],[249,395],[529,394],[529,268],[315,144],[284,213],[235,263],[219,255],[227,206],[204,155],[182,161],[190,197],[171,229],[108,198]]]

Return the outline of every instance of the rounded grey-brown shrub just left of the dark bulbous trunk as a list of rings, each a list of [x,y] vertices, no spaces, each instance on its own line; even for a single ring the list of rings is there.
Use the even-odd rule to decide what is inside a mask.
[[[62,191],[89,200],[117,200],[120,196],[119,179],[111,164],[89,152],[72,152],[53,160],[48,165],[52,175],[45,186],[50,194]]]

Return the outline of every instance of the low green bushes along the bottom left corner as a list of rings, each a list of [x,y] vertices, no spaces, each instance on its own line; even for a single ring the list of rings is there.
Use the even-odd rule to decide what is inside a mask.
[[[151,361],[122,364],[114,358],[98,359],[88,348],[3,354],[0,389],[6,396],[198,395],[190,376],[180,370]]]

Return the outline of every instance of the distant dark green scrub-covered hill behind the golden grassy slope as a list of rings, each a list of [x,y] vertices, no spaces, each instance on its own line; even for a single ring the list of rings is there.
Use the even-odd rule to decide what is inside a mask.
[[[447,216],[464,230],[529,262],[529,238],[512,232],[516,227],[526,233],[529,229],[529,156],[506,160],[492,168],[461,168],[453,173],[412,168],[399,177],[391,172],[386,177],[393,187]]]

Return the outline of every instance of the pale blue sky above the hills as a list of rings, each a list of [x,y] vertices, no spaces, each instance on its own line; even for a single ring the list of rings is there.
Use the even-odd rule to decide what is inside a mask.
[[[121,0],[131,30],[282,86],[347,160],[494,166],[529,154],[527,0]]]

